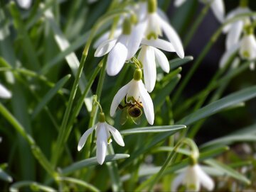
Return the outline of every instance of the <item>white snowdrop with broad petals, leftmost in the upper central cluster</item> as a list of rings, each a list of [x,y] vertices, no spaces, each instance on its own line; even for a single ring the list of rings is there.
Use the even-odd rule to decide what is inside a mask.
[[[144,23],[132,26],[129,34],[122,33],[118,38],[106,40],[97,47],[95,57],[107,55],[107,74],[114,76],[120,72],[126,60],[130,60],[142,41]]]

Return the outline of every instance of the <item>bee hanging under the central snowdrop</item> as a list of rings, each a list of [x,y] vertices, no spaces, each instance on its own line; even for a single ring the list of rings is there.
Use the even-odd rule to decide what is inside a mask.
[[[124,125],[124,123],[127,122],[128,118],[132,118],[132,121],[139,125],[140,123],[140,116],[142,115],[142,102],[136,101],[134,98],[132,98],[131,103],[127,103],[126,97],[124,98],[124,106],[119,104],[118,108],[122,110],[121,115],[121,124]]]

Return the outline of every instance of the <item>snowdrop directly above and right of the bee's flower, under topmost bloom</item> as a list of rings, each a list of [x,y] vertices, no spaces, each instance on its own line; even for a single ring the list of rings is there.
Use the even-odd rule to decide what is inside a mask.
[[[142,49],[139,51],[138,60],[143,65],[144,82],[149,93],[153,91],[156,84],[156,63],[160,65],[164,72],[169,73],[169,61],[161,50],[168,52],[175,52],[174,46],[168,41],[156,40],[142,40]],[[159,50],[159,49],[161,50]]]

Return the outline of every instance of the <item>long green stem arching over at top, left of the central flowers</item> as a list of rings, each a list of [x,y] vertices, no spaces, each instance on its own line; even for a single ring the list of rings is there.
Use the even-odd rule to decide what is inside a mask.
[[[82,75],[82,69],[85,65],[85,60],[87,58],[88,51],[89,51],[90,45],[92,43],[92,40],[94,38],[94,35],[96,34],[96,32],[100,28],[100,26],[102,26],[104,23],[106,23],[110,19],[112,19],[116,16],[119,16],[122,13],[127,13],[127,11],[117,10],[117,11],[112,11],[111,13],[106,13],[105,16],[102,16],[97,21],[97,23],[95,24],[95,26],[93,26],[93,28],[91,30],[90,36],[89,36],[89,38],[87,40],[87,43],[85,45],[85,49],[82,52],[82,58],[80,60],[80,65],[79,65],[79,68],[78,68],[78,72],[75,76],[75,82],[74,82],[73,87],[72,87],[71,92],[70,92],[70,98],[68,100],[68,106],[65,110],[63,121],[60,125],[60,132],[58,134],[58,138],[57,138],[57,142],[56,142],[57,144],[55,146],[54,153],[53,153],[53,159],[52,159],[53,166],[56,166],[56,164],[58,163],[58,158],[60,157],[60,154],[63,152],[63,144],[64,144],[66,138],[68,138],[67,137],[67,134],[68,134],[68,131],[67,131],[68,118],[70,116],[71,108],[73,106],[73,101],[75,99],[75,94],[78,90],[78,83],[79,83],[80,77]]]

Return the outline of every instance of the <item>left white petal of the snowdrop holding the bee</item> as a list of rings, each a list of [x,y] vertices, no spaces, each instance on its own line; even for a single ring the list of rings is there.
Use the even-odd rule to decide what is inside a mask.
[[[129,84],[130,84],[130,82],[128,84],[122,86],[122,88],[119,89],[119,91],[117,91],[117,94],[115,94],[113,101],[111,103],[111,106],[110,106],[110,116],[114,115],[119,103],[122,101],[124,96],[126,96],[127,91],[129,89]]]

